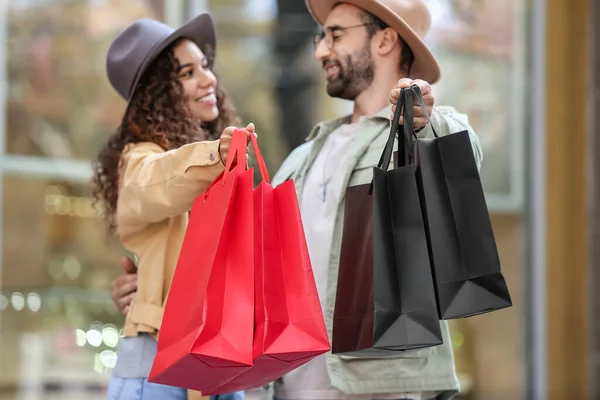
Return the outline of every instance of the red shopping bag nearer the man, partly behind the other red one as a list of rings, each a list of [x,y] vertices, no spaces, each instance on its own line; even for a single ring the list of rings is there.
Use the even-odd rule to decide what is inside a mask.
[[[262,175],[254,191],[254,365],[220,393],[263,386],[330,349],[294,183],[274,189],[254,137],[252,145]]]

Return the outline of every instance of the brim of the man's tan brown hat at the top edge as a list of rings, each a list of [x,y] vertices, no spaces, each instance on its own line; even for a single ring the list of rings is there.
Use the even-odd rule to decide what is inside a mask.
[[[308,11],[319,25],[325,23],[333,6],[338,3],[340,3],[340,0],[306,0]],[[343,3],[348,3],[370,12],[398,32],[415,56],[410,70],[410,78],[423,79],[432,84],[440,79],[440,65],[435,56],[419,35],[396,13],[382,3],[373,0],[343,0]]]

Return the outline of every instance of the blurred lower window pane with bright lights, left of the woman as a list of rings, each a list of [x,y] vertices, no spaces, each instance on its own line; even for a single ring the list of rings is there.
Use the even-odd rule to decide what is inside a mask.
[[[0,384],[87,386],[101,398],[123,321],[109,298],[122,249],[88,184],[5,176],[3,186]]]

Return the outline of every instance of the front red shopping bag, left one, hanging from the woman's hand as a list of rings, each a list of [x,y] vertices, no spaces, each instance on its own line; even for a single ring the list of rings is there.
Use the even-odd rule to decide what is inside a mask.
[[[212,393],[252,365],[253,171],[245,168],[246,145],[246,133],[236,132],[225,171],[194,201],[151,382]]]

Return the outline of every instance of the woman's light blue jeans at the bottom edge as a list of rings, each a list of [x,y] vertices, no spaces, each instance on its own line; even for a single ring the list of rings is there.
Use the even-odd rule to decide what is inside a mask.
[[[187,400],[187,390],[159,385],[145,378],[113,376],[108,386],[107,400]],[[244,392],[210,396],[211,400],[244,400]]]

